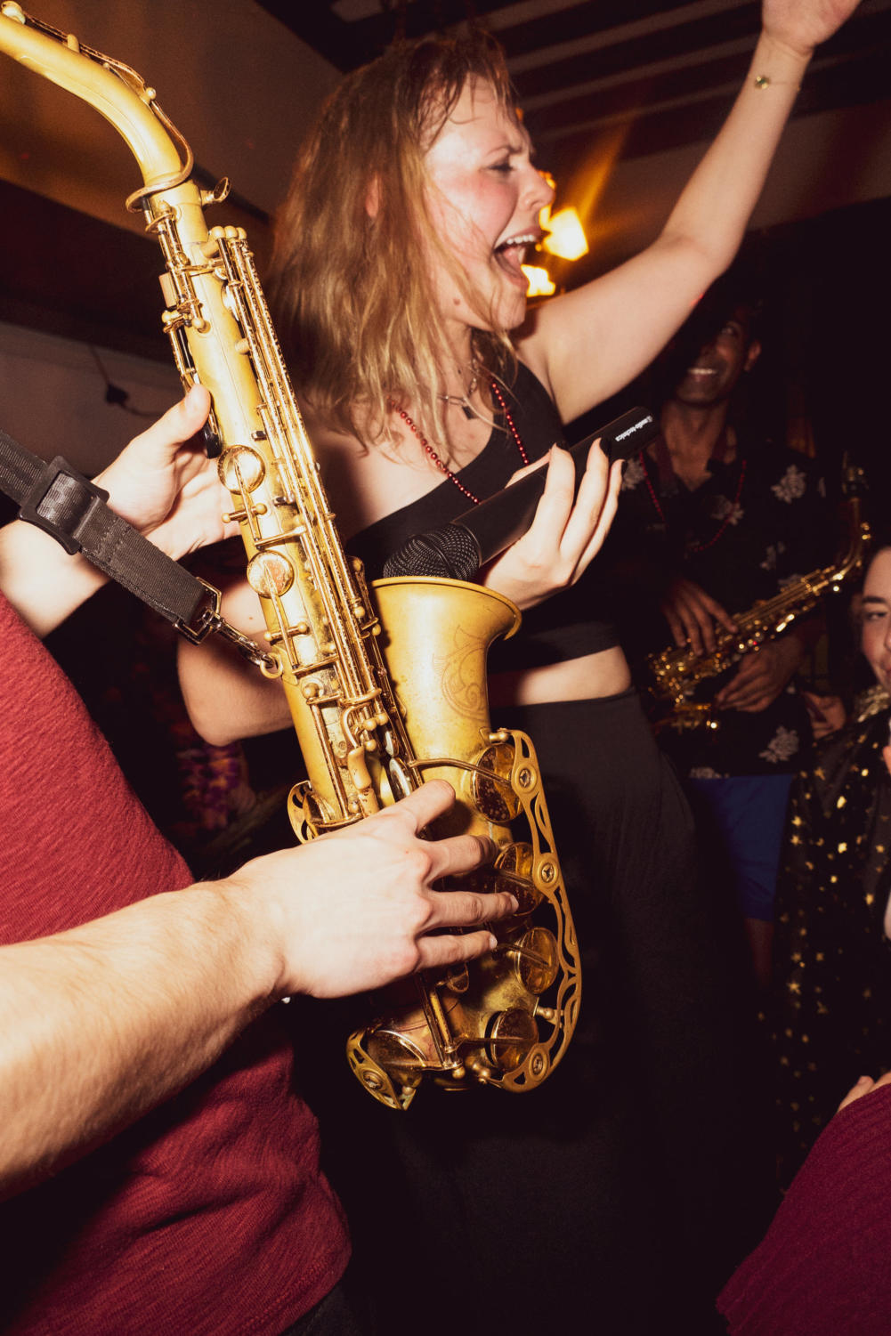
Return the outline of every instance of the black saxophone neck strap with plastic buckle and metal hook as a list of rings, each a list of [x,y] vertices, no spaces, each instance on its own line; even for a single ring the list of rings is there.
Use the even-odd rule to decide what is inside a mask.
[[[220,593],[168,557],[108,505],[108,493],[56,456],[49,464],[0,430],[0,490],[69,556],[81,552],[180,635],[200,644],[211,632],[232,640],[255,663],[267,663],[252,640],[223,621]]]

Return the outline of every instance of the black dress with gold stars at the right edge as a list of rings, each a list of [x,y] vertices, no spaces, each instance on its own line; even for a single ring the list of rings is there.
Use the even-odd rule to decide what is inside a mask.
[[[870,695],[789,803],[771,1006],[787,1182],[858,1077],[891,1069],[890,712],[884,693]]]

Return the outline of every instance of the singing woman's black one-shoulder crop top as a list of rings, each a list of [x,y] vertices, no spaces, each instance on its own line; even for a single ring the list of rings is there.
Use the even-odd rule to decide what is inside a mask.
[[[550,395],[532,371],[518,365],[513,389],[506,390],[508,406],[530,461],[540,460],[552,445],[564,445],[562,424]],[[496,418],[496,428],[480,454],[457,477],[477,497],[500,492],[521,466],[516,442]],[[383,573],[383,562],[415,533],[438,529],[468,510],[468,498],[449,480],[409,505],[383,516],[347,542],[347,552],[361,557],[370,580]],[[618,644],[610,621],[598,615],[597,580],[589,566],[570,589],[546,599],[522,615],[522,625],[509,644],[496,644],[489,655],[489,671],[505,672],[538,668],[580,659]]]

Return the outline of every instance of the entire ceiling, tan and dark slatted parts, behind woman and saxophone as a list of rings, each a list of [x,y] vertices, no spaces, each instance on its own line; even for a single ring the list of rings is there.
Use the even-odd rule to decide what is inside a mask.
[[[588,232],[590,254],[556,274],[564,286],[657,235],[732,103],[759,13],[751,0],[224,0],[212,24],[199,24],[204,8],[40,4],[47,21],[163,90],[200,183],[223,174],[235,183],[240,210],[227,202],[226,222],[244,223],[260,261],[299,136],[338,72],[401,32],[448,29],[476,8],[505,47],[538,162],[557,179],[557,207],[574,204]],[[807,73],[753,228],[850,206],[891,208],[890,57],[891,0],[863,0]],[[11,243],[0,248],[0,321],[167,358],[156,247],[138,218],[128,220],[135,231],[122,230],[131,175],[128,150],[92,107],[4,63],[0,216]]]

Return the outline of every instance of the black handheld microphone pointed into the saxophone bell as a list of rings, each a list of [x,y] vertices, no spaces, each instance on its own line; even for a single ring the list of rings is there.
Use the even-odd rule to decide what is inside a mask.
[[[588,464],[588,452],[600,437],[606,458],[627,460],[659,436],[659,422],[648,409],[632,409],[614,422],[592,432],[569,448],[576,465],[576,489]],[[542,466],[509,488],[496,492],[472,510],[441,529],[415,533],[403,546],[391,552],[383,566],[383,578],[394,576],[437,576],[445,580],[473,580],[488,561],[521,538],[533,521],[545,490]]]

